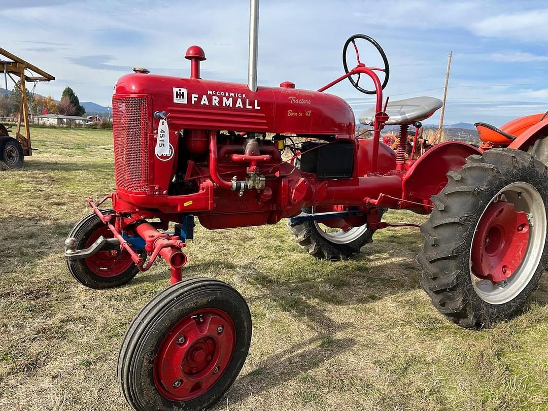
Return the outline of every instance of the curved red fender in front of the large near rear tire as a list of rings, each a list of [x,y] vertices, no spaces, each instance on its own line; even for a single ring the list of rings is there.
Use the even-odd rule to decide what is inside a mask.
[[[476,147],[461,141],[438,144],[421,156],[402,180],[404,198],[429,200],[447,184],[447,173],[463,167],[466,157],[481,155]]]

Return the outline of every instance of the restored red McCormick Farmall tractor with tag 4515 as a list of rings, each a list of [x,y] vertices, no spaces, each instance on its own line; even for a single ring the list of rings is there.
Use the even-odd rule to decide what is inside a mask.
[[[88,200],[93,212],[66,241],[68,270],[90,288],[128,283],[158,256],[170,266],[172,286],[135,316],[119,351],[119,386],[136,410],[212,406],[248,353],[252,323],[242,296],[216,279],[181,281],[195,218],[210,230],[287,218],[306,252],[336,260],[359,252],[376,230],[398,226],[381,221],[386,209],[430,214],[420,227],[421,284],[450,321],[470,328],[517,315],[547,264],[548,168],[535,156],[545,160],[539,138],[548,119],[522,119],[505,131],[480,125],[479,150],[449,141],[406,160],[409,125],[420,127],[441,101],[384,100],[388,61],[364,35],[344,45],[345,74],[317,91],[290,82],[256,87],[257,3],[248,84],[201,79],[206,56],[197,46],[186,53],[189,78],[135,69],[118,80],[116,190]],[[359,41],[378,49],[384,67],[367,66]],[[356,55],[353,68],[347,50]],[[326,93],[345,79],[376,95],[374,109],[359,117],[373,139],[356,139],[351,107]],[[387,124],[401,128],[395,151],[379,141]],[[307,140],[292,143],[294,136]],[[284,160],[285,146],[295,155]],[[112,208],[100,209],[107,199]]]

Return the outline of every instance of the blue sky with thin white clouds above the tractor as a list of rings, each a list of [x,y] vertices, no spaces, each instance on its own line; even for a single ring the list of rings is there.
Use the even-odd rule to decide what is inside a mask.
[[[81,101],[106,105],[132,66],[188,76],[191,44],[206,52],[203,78],[246,82],[248,7],[247,0],[0,0],[2,47],[56,77],[37,93],[59,98],[70,85]],[[453,51],[446,123],[500,125],[548,110],[546,21],[540,1],[261,0],[258,83],[317,89],[343,72],[346,38],[364,33],[389,58],[392,100],[441,98]],[[379,64],[366,47],[361,57]],[[356,112],[373,104],[346,81],[330,92]]]

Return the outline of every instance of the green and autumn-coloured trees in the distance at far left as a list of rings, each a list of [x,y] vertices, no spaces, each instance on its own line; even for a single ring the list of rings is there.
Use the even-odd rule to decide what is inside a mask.
[[[70,87],[65,87],[61,94],[61,100],[56,101],[51,95],[41,96],[26,90],[27,105],[31,115],[62,114],[65,116],[83,116],[84,107],[80,104],[78,96]],[[16,116],[21,107],[21,81],[18,81],[9,96],[0,96],[0,116]]]

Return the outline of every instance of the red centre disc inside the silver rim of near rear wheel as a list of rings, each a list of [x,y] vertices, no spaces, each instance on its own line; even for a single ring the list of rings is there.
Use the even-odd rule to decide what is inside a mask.
[[[472,273],[493,283],[503,282],[518,269],[529,246],[527,213],[514,204],[490,203],[478,222],[472,242]]]

